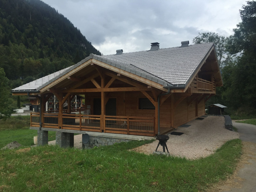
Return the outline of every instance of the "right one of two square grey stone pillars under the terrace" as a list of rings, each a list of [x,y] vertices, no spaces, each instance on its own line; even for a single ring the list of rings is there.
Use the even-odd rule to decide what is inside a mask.
[[[74,147],[74,133],[56,132],[56,145],[60,147]]]

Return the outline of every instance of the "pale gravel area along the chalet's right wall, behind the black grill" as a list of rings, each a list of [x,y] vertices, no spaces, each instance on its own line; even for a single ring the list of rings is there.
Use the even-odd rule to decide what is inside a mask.
[[[169,153],[173,156],[186,157],[187,159],[197,159],[206,157],[215,152],[226,141],[239,138],[238,132],[225,129],[223,116],[208,116],[203,120],[193,120],[187,124],[188,128],[179,127],[177,132],[184,134],[168,135],[167,141]],[[145,154],[152,154],[157,147],[158,140],[153,143],[134,148],[134,151]],[[158,151],[163,151],[159,146]]]

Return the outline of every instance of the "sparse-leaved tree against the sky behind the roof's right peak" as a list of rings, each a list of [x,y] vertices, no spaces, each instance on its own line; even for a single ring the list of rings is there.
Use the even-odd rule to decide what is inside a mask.
[[[218,58],[219,66],[221,66],[221,62],[224,59],[224,54],[226,53],[225,45],[226,45],[226,37],[220,36],[218,33],[198,33],[193,39],[194,44],[201,44],[201,43],[210,43],[213,42],[215,45],[215,51]]]

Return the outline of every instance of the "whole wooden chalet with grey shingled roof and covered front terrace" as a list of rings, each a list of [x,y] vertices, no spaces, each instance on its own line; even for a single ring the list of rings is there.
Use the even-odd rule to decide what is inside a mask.
[[[159,48],[113,55],[94,55],[77,64],[12,90],[40,100],[31,113],[31,128],[81,133],[156,136],[204,115],[205,101],[222,86],[213,43]],[[74,95],[85,107],[63,109]],[[45,103],[58,98],[59,110]],[[68,105],[70,106],[70,105]],[[85,112],[86,111],[86,112]],[[91,113],[87,113],[90,111]],[[122,135],[120,135],[122,136]]]

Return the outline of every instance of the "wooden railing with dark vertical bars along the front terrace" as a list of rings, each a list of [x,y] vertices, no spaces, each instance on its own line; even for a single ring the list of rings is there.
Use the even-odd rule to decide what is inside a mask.
[[[31,127],[39,127],[39,116],[38,112],[31,113]],[[44,112],[43,118],[43,128],[155,136],[154,117],[85,115],[81,112],[80,114],[63,113],[62,121],[59,123],[60,117],[56,111]]]

